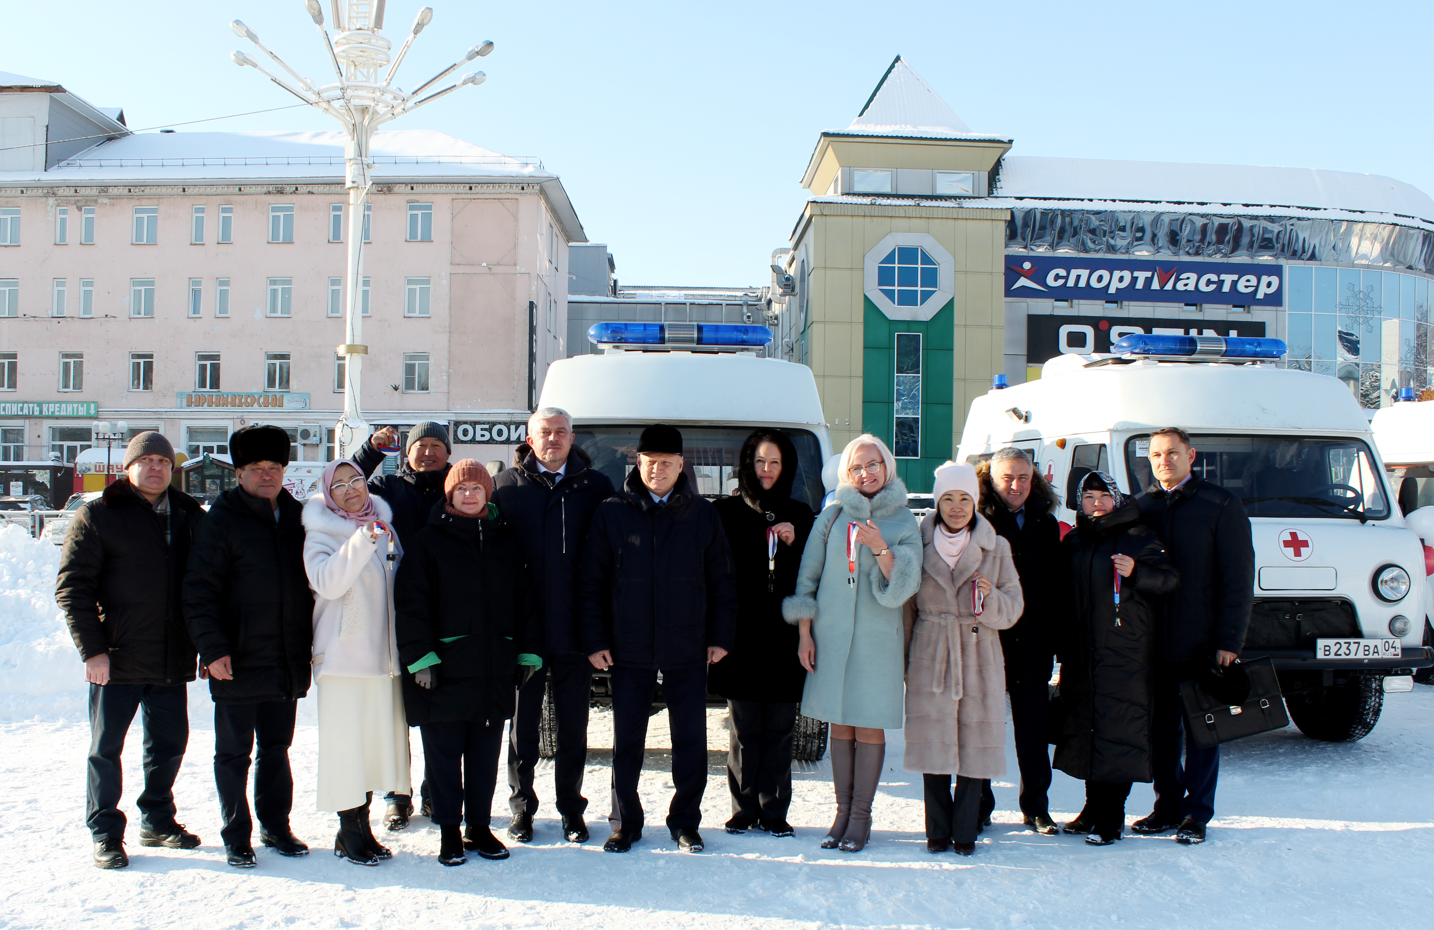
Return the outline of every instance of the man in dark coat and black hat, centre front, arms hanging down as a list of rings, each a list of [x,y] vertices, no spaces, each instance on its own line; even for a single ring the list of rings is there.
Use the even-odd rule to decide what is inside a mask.
[[[594,668],[611,671],[612,835],[625,853],[642,837],[647,718],[657,673],[673,732],[673,802],[667,828],[678,848],[703,848],[707,787],[707,665],[733,646],[737,596],[717,509],[683,474],[683,434],[642,430],[638,464],[598,506],[582,553],[578,619]]]

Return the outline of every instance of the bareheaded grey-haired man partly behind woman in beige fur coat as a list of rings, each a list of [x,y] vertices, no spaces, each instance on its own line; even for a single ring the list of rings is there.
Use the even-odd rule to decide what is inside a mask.
[[[1051,835],[1055,821],[1047,801],[1051,757],[1045,705],[1050,699],[1057,618],[1068,610],[1063,602],[1064,569],[1061,527],[1054,513],[1055,493],[1025,451],[1014,446],[998,449],[989,463],[977,469],[977,474],[981,479],[981,516],[991,520],[995,532],[1011,543],[1011,557],[1025,599],[1021,619],[1001,631],[1015,759],[1021,768],[1021,814],[1027,827]],[[982,823],[995,810],[989,784],[982,798]]]

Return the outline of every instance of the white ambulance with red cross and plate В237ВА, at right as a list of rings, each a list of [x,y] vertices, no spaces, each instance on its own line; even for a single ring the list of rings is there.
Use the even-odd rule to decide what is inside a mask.
[[[1037,381],[977,398],[958,460],[1020,446],[1074,524],[1081,479],[1150,487],[1150,431],[1192,434],[1195,471],[1238,494],[1255,540],[1245,658],[1272,656],[1289,716],[1351,741],[1385,692],[1434,663],[1423,643],[1425,553],[1395,506],[1369,423],[1336,378],[1275,368],[1279,340],[1127,335],[1117,355],[1061,355]]]

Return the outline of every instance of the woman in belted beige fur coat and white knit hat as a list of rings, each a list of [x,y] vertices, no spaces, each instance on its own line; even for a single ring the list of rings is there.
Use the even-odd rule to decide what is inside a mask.
[[[926,850],[975,851],[985,781],[1005,774],[1002,631],[1021,618],[1011,546],[977,513],[971,466],[936,469],[921,523],[921,589],[906,608],[906,759],[922,772]],[[956,785],[952,794],[951,777]]]

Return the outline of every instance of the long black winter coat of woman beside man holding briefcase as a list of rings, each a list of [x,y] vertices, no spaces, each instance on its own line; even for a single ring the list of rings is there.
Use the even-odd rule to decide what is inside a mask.
[[[1126,504],[1106,516],[1077,517],[1061,543],[1074,610],[1061,631],[1063,719],[1055,768],[1090,781],[1150,781],[1153,678],[1160,658],[1157,603],[1179,576],[1160,540]],[[1110,557],[1130,556],[1136,569],[1120,579]],[[1116,620],[1120,625],[1116,625]]]

